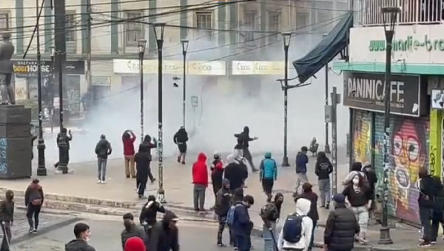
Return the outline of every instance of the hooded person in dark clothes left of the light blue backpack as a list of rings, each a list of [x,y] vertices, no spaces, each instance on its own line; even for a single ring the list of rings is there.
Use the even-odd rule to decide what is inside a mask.
[[[214,208],[214,212],[218,216],[219,228],[218,228],[218,237],[217,237],[217,245],[219,247],[226,247],[225,244],[222,243],[222,233],[223,229],[226,226],[226,216],[228,214],[228,210],[231,205],[231,193],[230,193],[230,181],[227,179],[222,180],[222,188],[216,193],[216,206]],[[231,234],[230,234],[230,243]]]

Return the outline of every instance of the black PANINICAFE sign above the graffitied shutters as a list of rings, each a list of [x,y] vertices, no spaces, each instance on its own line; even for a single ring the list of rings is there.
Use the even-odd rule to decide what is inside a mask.
[[[344,105],[352,108],[384,111],[384,74],[344,72]],[[392,75],[390,83],[390,113],[421,116],[426,112],[426,100],[420,77]]]

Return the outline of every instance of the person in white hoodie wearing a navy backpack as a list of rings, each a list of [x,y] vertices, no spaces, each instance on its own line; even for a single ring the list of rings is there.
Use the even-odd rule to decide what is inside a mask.
[[[296,212],[287,216],[278,237],[279,251],[308,251],[313,221],[307,216],[311,202],[305,198],[296,201]]]

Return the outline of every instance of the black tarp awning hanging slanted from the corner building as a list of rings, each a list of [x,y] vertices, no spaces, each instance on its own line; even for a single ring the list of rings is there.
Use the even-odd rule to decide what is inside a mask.
[[[353,27],[353,12],[347,13],[307,55],[292,62],[300,83],[311,78],[348,45],[351,27]]]

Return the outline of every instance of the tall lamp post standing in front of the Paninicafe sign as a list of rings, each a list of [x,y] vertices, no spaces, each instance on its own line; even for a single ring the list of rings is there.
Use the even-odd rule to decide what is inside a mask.
[[[400,12],[398,7],[383,7],[382,19],[385,31],[385,96],[384,96],[384,171],[383,171],[383,194],[382,194],[382,224],[380,229],[379,244],[392,244],[390,228],[388,227],[387,189],[389,183],[389,134],[390,134],[390,81],[392,64],[392,41],[395,33],[396,16]]]

